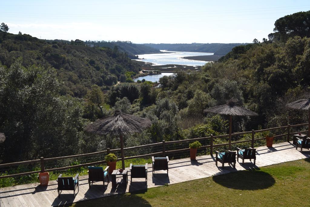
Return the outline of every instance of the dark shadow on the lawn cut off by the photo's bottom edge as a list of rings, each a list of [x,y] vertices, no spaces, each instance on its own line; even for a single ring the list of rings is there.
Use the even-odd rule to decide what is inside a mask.
[[[134,191],[130,193],[122,193],[113,196],[106,196],[102,198],[95,198],[88,201],[79,201],[75,203],[76,207],[84,206],[142,206],[150,207],[151,204],[138,196],[139,194],[144,194],[145,189]]]

